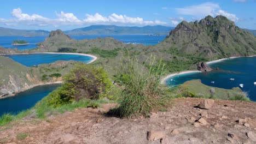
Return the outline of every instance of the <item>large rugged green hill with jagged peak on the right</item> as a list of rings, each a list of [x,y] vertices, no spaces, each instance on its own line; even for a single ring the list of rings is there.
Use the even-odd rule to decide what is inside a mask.
[[[200,22],[179,23],[158,47],[177,55],[211,60],[255,55],[256,38],[224,16],[207,16]]]

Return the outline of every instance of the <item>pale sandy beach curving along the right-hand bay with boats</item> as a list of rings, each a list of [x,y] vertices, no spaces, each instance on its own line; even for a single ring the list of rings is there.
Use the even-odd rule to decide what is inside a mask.
[[[234,59],[234,58],[241,58],[241,57],[256,57],[256,55],[221,58],[221,59],[217,59],[217,60],[206,62],[206,64],[218,63],[218,62],[225,61],[226,59]],[[161,80],[161,83],[162,84],[166,84],[166,80],[169,79],[170,77],[177,76],[177,75],[182,75],[182,74],[189,74],[189,73],[202,73],[202,71],[199,71],[199,70],[187,70],[187,71],[181,71],[181,72],[178,72],[178,73],[172,73],[170,75],[165,76]]]

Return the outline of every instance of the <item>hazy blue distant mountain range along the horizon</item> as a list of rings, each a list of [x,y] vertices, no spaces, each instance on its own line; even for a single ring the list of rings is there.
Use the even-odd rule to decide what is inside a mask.
[[[144,26],[144,27],[125,27],[115,25],[92,25],[89,27],[64,31],[68,35],[118,35],[118,34],[148,34],[148,35],[168,35],[175,27],[167,26]],[[244,29],[256,35],[256,30]],[[25,30],[0,27],[0,36],[49,36],[49,31],[44,30]]]

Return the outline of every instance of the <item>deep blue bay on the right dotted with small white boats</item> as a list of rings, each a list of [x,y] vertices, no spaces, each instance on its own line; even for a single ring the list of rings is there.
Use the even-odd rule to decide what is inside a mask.
[[[256,101],[256,57],[242,57],[227,59],[222,62],[210,64],[213,69],[217,67],[219,71],[211,71],[207,73],[191,73],[170,77],[166,84],[174,86],[184,83],[185,81],[200,79],[203,84],[213,87],[231,89],[239,87],[239,84],[244,85],[242,91],[248,92],[249,98]],[[230,81],[234,78],[234,81]],[[174,81],[171,81],[173,79]],[[211,83],[214,81],[214,83]]]

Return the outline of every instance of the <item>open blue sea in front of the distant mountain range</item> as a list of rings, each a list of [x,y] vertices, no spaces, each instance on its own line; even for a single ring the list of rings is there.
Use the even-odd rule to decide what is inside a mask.
[[[166,35],[71,35],[71,38],[82,40],[82,39],[95,39],[95,38],[106,38],[112,37],[114,39],[123,41],[123,43],[132,44],[144,44],[144,45],[156,45],[160,41],[164,40]],[[19,50],[29,50],[37,47],[37,43],[45,40],[46,37],[22,37],[22,36],[9,36],[0,37],[0,46],[4,48],[17,48]],[[26,40],[29,45],[11,45],[14,40]]]

